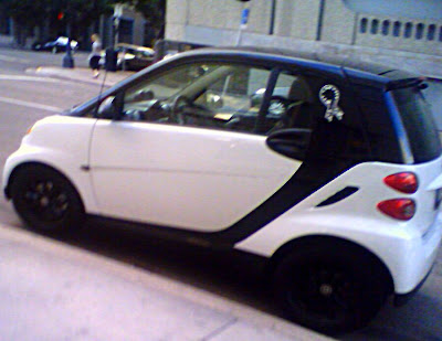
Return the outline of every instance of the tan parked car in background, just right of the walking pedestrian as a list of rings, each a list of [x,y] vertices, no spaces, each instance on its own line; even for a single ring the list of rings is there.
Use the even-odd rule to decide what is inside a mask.
[[[154,63],[155,51],[150,47],[120,43],[115,45],[117,70],[140,71]],[[105,65],[105,52],[99,62]]]

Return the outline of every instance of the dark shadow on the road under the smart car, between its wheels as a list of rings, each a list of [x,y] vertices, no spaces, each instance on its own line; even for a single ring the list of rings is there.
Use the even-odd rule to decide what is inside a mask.
[[[282,317],[263,276],[263,260],[255,256],[159,239],[139,227],[95,221],[75,233],[50,237]]]

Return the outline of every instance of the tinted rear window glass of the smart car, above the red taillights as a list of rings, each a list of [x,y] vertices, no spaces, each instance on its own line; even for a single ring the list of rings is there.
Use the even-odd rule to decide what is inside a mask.
[[[430,105],[420,89],[414,87],[392,90],[396,105],[402,117],[414,162],[433,160],[441,154],[441,142]]]

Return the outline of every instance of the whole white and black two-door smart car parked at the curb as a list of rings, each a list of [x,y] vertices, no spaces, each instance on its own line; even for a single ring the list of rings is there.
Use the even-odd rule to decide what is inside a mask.
[[[304,326],[367,323],[423,283],[441,241],[441,145],[422,78],[259,49],[149,66],[38,121],[4,193],[31,227],[98,216],[266,259]]]

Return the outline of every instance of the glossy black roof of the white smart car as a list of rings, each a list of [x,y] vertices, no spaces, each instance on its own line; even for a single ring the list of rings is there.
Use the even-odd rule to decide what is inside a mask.
[[[224,47],[203,47],[187,52],[189,54],[243,54],[244,56],[267,55],[273,57],[288,57],[297,61],[312,63],[313,67],[317,67],[318,63],[322,68],[336,70],[336,67],[345,68],[346,73],[357,78],[370,78],[380,83],[398,82],[401,79],[415,79],[419,75],[397,70],[382,64],[356,61],[349,56],[329,55],[326,53],[292,51],[286,49],[261,47],[261,46],[224,46]]]

